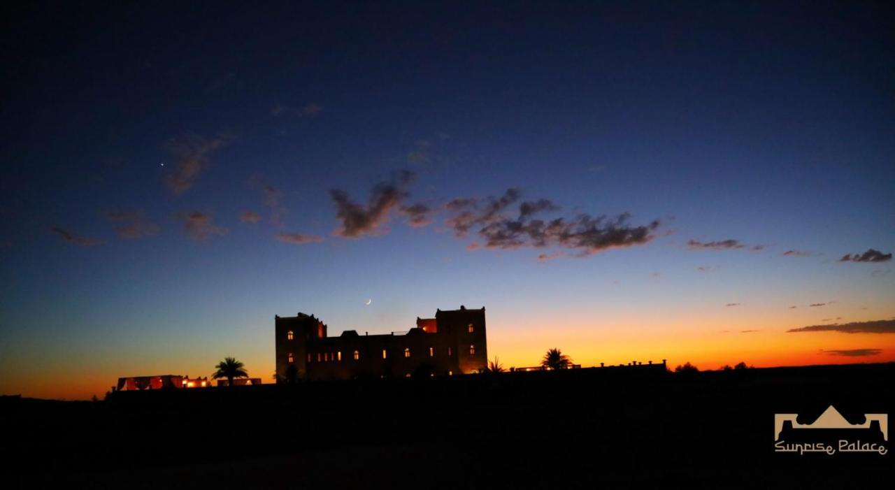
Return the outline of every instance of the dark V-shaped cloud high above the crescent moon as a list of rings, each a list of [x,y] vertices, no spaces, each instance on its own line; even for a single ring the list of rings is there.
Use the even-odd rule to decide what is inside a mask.
[[[342,225],[336,230],[338,236],[358,238],[379,230],[388,221],[392,209],[400,207],[410,194],[407,187],[415,174],[404,170],[392,175],[389,181],[379,182],[370,192],[367,206],[357,204],[345,190],[329,190],[329,196],[336,204],[336,215]]]

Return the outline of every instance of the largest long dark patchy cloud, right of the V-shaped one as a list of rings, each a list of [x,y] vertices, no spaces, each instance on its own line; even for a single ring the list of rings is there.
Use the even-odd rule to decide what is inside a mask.
[[[579,214],[545,220],[534,216],[558,207],[549,199],[523,201],[516,206],[521,195],[520,190],[510,188],[499,198],[454,199],[446,205],[450,217],[445,224],[459,238],[474,228],[483,241],[480,246],[483,249],[559,247],[576,250],[577,257],[647,243],[660,224],[655,220],[650,224],[631,225],[627,213],[611,218]]]

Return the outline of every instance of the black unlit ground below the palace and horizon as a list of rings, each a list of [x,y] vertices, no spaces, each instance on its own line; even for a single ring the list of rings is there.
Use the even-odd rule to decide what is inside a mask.
[[[0,460],[4,481],[27,488],[895,483],[891,452],[773,452],[775,412],[801,423],[830,404],[852,423],[895,412],[895,364],[654,371],[116,393],[101,402],[7,397]]]

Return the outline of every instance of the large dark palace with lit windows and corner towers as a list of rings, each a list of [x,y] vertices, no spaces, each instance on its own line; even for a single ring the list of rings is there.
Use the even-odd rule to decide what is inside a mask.
[[[277,383],[363,376],[451,376],[487,366],[485,308],[438,310],[407,332],[327,336],[327,325],[299,313],[276,317]]]

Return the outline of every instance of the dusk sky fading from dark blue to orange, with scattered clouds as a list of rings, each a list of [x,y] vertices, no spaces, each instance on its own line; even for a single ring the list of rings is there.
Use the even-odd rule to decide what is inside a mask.
[[[3,9],[0,393],[460,305],[505,367],[895,360],[891,3]]]

